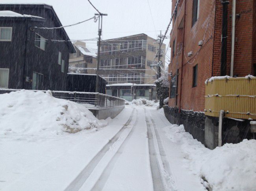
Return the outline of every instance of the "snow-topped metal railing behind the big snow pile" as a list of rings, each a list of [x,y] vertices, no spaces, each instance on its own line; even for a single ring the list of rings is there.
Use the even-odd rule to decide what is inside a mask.
[[[19,91],[20,89],[3,89],[0,88],[0,94],[10,93],[11,91]],[[42,91],[46,90],[29,90],[29,91]],[[48,90],[49,91],[49,90]],[[124,99],[115,96],[110,96],[102,93],[94,92],[78,92],[78,91],[50,91],[52,96],[64,100],[83,104],[89,109],[105,109],[112,107],[123,107]]]

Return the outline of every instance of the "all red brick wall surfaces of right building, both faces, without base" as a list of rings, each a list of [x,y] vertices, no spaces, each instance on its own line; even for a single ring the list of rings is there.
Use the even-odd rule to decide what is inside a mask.
[[[173,0],[173,9],[176,0]],[[211,76],[220,75],[221,65],[221,33],[222,33],[222,11],[221,1],[205,0],[200,1],[199,19],[192,26],[192,0],[187,0],[186,26],[185,26],[185,48],[184,48],[184,69],[183,79],[181,79],[182,55],[174,57],[169,65],[169,72],[178,75],[178,93],[180,93],[182,80],[182,100],[181,109],[204,110],[205,80]],[[253,5],[254,4],[254,5]],[[254,9],[254,11],[253,11]],[[170,47],[173,48],[173,40],[177,44],[183,41],[183,29],[178,29],[184,16],[184,4],[180,4],[176,20],[173,22],[171,31]],[[252,74],[252,63],[256,63],[256,0],[237,0],[236,12],[240,18],[236,19],[236,44],[234,58],[234,75],[245,76]],[[172,10],[173,11],[173,10]],[[230,75],[231,61],[231,37],[232,37],[232,1],[228,5],[228,44],[227,44],[227,75]],[[254,28],[253,24],[254,23]],[[252,38],[254,36],[254,38]],[[198,41],[204,39],[202,47],[198,46]],[[187,57],[187,53],[193,51],[193,56]],[[254,54],[253,54],[254,53]],[[178,64],[176,64],[178,63]],[[198,64],[197,86],[192,87],[193,66]],[[179,98],[179,96],[178,96]],[[177,100],[178,103],[179,100]],[[175,98],[169,100],[169,106],[175,106]]]

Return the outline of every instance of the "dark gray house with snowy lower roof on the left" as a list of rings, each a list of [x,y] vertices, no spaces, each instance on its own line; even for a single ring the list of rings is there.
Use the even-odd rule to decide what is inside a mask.
[[[67,90],[74,46],[46,4],[0,4],[0,88]]]

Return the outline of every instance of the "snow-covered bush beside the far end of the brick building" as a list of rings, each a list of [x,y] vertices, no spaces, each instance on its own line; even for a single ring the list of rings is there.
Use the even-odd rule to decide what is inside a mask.
[[[154,83],[156,84],[157,96],[160,100],[159,105],[161,108],[164,105],[163,100],[169,96],[170,82],[168,80],[168,73],[163,73]]]

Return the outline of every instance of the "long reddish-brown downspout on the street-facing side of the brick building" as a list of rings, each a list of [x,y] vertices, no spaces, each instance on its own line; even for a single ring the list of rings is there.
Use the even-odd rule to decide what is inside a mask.
[[[181,98],[182,98],[182,78],[183,78],[183,64],[184,64],[184,48],[185,48],[185,29],[186,29],[186,11],[187,9],[187,0],[184,2],[184,32],[183,32],[183,42],[182,42],[182,61],[181,61],[181,69],[180,69],[180,93],[179,93],[179,113],[181,110]],[[177,80],[177,79],[176,79]],[[176,87],[178,88],[178,87]]]

